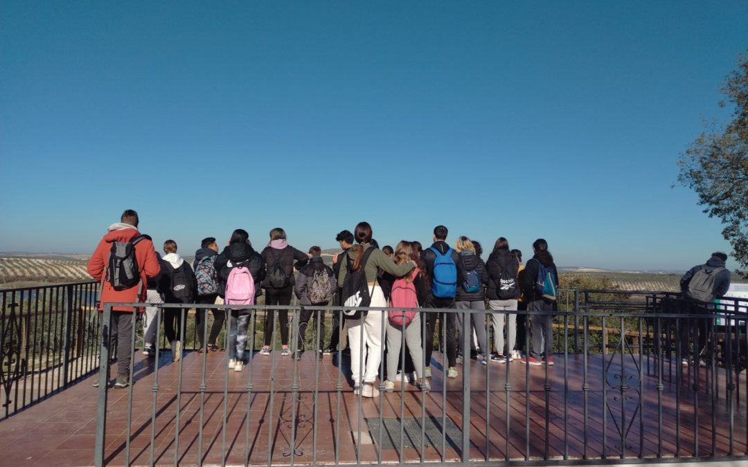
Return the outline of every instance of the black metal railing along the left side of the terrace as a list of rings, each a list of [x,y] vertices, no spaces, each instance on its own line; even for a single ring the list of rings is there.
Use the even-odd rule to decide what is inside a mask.
[[[97,286],[0,290],[0,420],[98,368]]]

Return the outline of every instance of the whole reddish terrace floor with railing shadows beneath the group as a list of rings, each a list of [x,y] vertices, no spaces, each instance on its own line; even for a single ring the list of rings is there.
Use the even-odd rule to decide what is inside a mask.
[[[705,392],[713,388],[706,368],[697,367],[695,391],[696,368],[666,362],[660,378],[652,356],[612,357],[592,355],[585,362],[583,356],[565,361],[557,355],[554,366],[530,368],[518,361],[487,366],[471,361],[470,460],[747,455],[744,375],[728,392],[719,374],[713,397]],[[278,353],[255,354],[241,373],[227,371],[226,358],[191,352],[174,363],[164,351],[156,368],[154,359],[138,352],[129,430],[129,391],[108,390],[105,462],[289,465],[461,457],[464,368],[445,381],[440,354],[432,363],[431,392],[409,384],[400,392],[396,385],[396,392],[373,399],[353,394],[345,358],[341,367],[337,356],[317,360],[307,352],[295,363]],[[92,465],[93,378],[1,421],[0,465]],[[622,380],[628,386],[623,398]]]

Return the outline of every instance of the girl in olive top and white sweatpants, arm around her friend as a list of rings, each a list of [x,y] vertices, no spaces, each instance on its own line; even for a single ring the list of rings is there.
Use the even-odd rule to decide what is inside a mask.
[[[381,267],[382,270],[393,276],[402,277],[413,270],[415,264],[407,262],[405,265],[396,265],[392,259],[376,248],[368,253],[368,259],[365,264],[362,264],[362,259],[367,250],[374,248],[372,228],[369,223],[360,222],[353,235],[358,245],[349,250],[342,259],[339,259],[341,265],[338,285],[343,288],[349,270],[357,271],[363,267],[371,296],[370,306],[384,308],[387,306],[387,301],[384,300],[381,287],[376,282],[377,269]],[[374,383],[381,362],[381,343],[384,338],[381,320],[384,314],[381,311],[364,312],[359,318],[346,319],[355,393],[358,394],[359,388],[362,387],[361,395],[364,398],[375,398],[379,395],[379,390],[375,388]],[[365,365],[364,371],[361,369],[361,362]]]

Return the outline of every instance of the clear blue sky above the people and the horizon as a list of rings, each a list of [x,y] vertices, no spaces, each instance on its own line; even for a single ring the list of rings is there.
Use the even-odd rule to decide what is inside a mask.
[[[675,161],[747,48],[747,1],[2,1],[0,251],[134,208],[186,255],[367,220],[685,269],[729,244]]]

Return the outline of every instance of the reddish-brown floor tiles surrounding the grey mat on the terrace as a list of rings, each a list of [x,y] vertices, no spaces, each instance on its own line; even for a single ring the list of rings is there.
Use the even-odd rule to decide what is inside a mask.
[[[309,358],[307,358],[307,356]],[[378,439],[369,435],[366,418],[398,418],[401,411],[406,417],[420,418],[433,416],[441,423],[443,410],[447,418],[457,427],[462,424],[463,380],[462,375],[455,380],[444,381],[441,377],[439,357],[433,365],[432,392],[423,394],[414,386],[405,385],[405,393],[397,391],[382,394],[381,398],[365,399],[352,394],[345,377],[333,359],[325,357],[322,362],[311,358],[311,353],[301,362],[255,356],[252,365],[241,373],[226,372],[226,354],[210,354],[206,359],[205,392],[200,391],[203,383],[203,360],[196,353],[187,353],[181,365],[174,365],[162,359],[158,371],[158,392],[156,395],[156,421],[152,424],[154,412],[154,377],[156,368],[148,362],[138,362],[135,384],[132,386],[132,425],[130,427],[129,462],[147,464],[150,451],[156,463],[174,463],[175,436],[177,433],[177,408],[179,418],[178,463],[197,463],[198,447],[205,463],[221,463],[226,457],[229,463],[243,464],[245,457],[257,465],[268,463],[310,463],[316,454],[318,463],[334,463],[336,448],[339,462],[355,462],[356,451],[360,450],[362,462],[375,462],[378,456],[385,462],[399,459],[400,450],[378,449]],[[525,392],[527,368],[519,362],[510,365],[476,365],[472,362],[470,371],[470,458],[503,460],[506,457],[506,443],[509,438],[509,457],[523,459],[558,457],[564,455],[564,443],[568,437],[570,457],[600,457],[604,439],[603,418],[606,420],[605,443],[608,456],[620,454],[619,432],[616,424],[622,418],[619,402],[613,398],[618,389],[607,386],[608,407],[604,409],[603,374],[600,356],[589,357],[589,389],[586,391],[586,415],[584,409],[585,392],[581,390],[583,360],[571,356],[568,368],[563,359],[548,368],[548,392],[545,391],[545,367],[530,368],[530,391]],[[275,365],[273,367],[272,365]],[[627,364],[628,365],[628,364]],[[183,372],[181,383],[179,371]],[[633,365],[628,365],[631,374]],[[680,368],[679,366],[676,368]],[[464,368],[460,367],[459,371]],[[613,365],[615,372],[616,367]],[[487,374],[488,373],[488,374]],[[568,391],[564,392],[564,374],[568,374]],[[88,465],[93,460],[93,442],[96,433],[96,394],[89,378],[58,395],[43,400],[36,406],[19,412],[0,422],[0,448],[4,456],[3,465]],[[337,390],[338,380],[342,389]],[[227,389],[224,383],[228,381]],[[490,383],[490,394],[486,395],[486,382]],[[446,386],[445,386],[446,383]],[[645,372],[643,381],[643,412],[636,412],[636,423],[626,438],[629,456],[636,456],[640,449],[640,439],[645,456],[657,454],[657,391],[656,378]],[[510,385],[509,412],[506,411],[506,388]],[[675,424],[675,386],[665,382],[663,390],[663,454],[676,454],[676,438],[681,437],[681,456],[693,455],[693,391],[686,381],[681,387],[681,426]],[[732,413],[735,420],[735,451],[744,453],[746,440],[745,378],[741,385],[742,405]],[[724,380],[720,380],[724,388]],[[314,400],[314,389],[319,388]],[[180,389],[180,392],[177,391]],[[271,393],[271,389],[273,393]],[[631,383],[628,394],[639,391],[638,383]],[[703,389],[702,389],[703,390]],[[724,390],[714,406],[717,410],[717,456],[725,456],[729,446],[726,443],[728,428],[724,420],[729,415],[724,401]],[[224,400],[224,395],[227,398]],[[108,391],[108,411],[106,418],[105,456],[110,465],[123,465],[126,460],[127,403],[129,391],[110,389]],[[404,397],[405,404],[401,405]],[[547,399],[548,398],[548,399]],[[202,403],[201,403],[202,400]],[[251,400],[248,406],[248,400]],[[548,403],[546,402],[548,400]],[[294,403],[294,401],[296,403]],[[361,403],[361,406],[359,406]],[[568,403],[568,411],[565,409]],[[203,408],[203,421],[200,424],[200,406]],[[224,406],[227,411],[224,412]],[[316,407],[315,407],[316,406]],[[486,409],[488,408],[488,427]],[[249,409],[249,410],[248,410]],[[637,403],[626,407],[631,417]],[[699,392],[699,453],[711,449],[711,396]],[[225,415],[224,415],[225,414]],[[296,423],[292,423],[292,420]],[[316,418],[315,418],[316,415]],[[509,430],[506,420],[509,416]],[[566,416],[566,424],[564,422]],[[224,421],[225,417],[225,421]],[[548,421],[546,421],[548,419]],[[586,420],[587,429],[584,430]],[[527,424],[529,421],[529,424]],[[640,433],[640,422],[644,433]],[[225,433],[224,433],[225,423]],[[202,442],[200,426],[202,425]],[[546,433],[548,425],[548,433]],[[358,427],[361,427],[361,445],[358,443]],[[247,443],[247,427],[249,442]],[[527,442],[527,429],[530,442]],[[295,431],[294,431],[295,430]],[[314,431],[316,430],[316,444]],[[487,431],[488,430],[488,431]],[[151,433],[155,440],[151,446]],[[586,433],[586,453],[584,449]],[[225,451],[224,451],[225,435]],[[292,450],[292,436],[295,436]],[[488,436],[488,442],[487,442]],[[548,439],[548,448],[546,448]],[[419,439],[420,441],[420,439]],[[486,445],[488,444],[488,454]],[[47,453],[47,454],[45,454]],[[7,455],[5,455],[7,454]],[[405,460],[438,461],[459,459],[459,446],[441,445],[441,436],[434,447],[402,449]],[[43,456],[43,457],[42,457]],[[13,460],[13,463],[10,463]],[[46,461],[46,462],[45,462]]]

